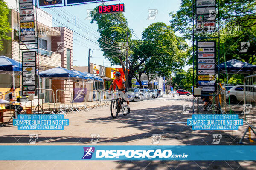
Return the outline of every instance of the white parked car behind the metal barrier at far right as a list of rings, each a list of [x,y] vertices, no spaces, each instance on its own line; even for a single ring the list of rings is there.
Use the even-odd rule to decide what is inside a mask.
[[[227,88],[226,88],[227,89]],[[230,102],[236,103],[244,100],[244,85],[235,85],[226,92],[226,99],[230,97]],[[245,86],[245,99],[246,102],[256,101],[256,86]]]

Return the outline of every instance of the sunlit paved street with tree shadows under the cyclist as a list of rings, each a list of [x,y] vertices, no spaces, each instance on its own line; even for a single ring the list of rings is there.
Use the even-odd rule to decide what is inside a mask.
[[[131,102],[131,113],[113,119],[110,108],[103,107],[69,113],[65,130],[17,130],[12,125],[1,127],[1,145],[28,145],[29,134],[38,134],[35,145],[152,145],[153,134],[161,139],[154,145],[211,145],[212,134],[222,134],[219,145],[238,145],[245,127],[238,131],[193,131],[186,125],[191,111],[183,114],[183,105],[192,104],[192,96],[164,97],[148,101]],[[187,99],[184,99],[187,98]],[[99,134],[96,144],[91,144],[91,134]],[[246,139],[245,139],[246,140]],[[95,141],[94,141],[95,142]],[[82,156],[82,155],[81,155]],[[255,161],[0,161],[1,168],[37,170],[140,170],[140,169],[250,169]]]

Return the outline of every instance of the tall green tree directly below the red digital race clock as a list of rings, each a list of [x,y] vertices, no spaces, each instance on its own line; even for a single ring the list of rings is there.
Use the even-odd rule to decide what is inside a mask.
[[[98,10],[98,7],[95,8]],[[96,22],[100,38],[98,42],[102,48],[103,55],[112,65],[121,65],[125,72],[126,56],[126,35],[128,31],[128,40],[131,41],[131,31],[128,29],[127,20],[122,13],[116,14],[98,14],[92,12],[91,23]]]

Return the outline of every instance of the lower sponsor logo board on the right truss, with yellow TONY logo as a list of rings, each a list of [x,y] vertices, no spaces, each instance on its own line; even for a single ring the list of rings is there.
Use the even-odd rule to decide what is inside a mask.
[[[197,87],[202,93],[216,91],[217,75],[215,74],[216,41],[196,42]]]

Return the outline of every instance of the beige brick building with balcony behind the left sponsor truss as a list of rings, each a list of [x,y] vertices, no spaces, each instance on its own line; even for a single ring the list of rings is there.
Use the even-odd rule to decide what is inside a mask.
[[[12,31],[8,36],[11,40],[4,40],[3,51],[0,51],[0,55],[10,57],[17,61],[22,60],[22,51],[29,51],[30,48],[35,48],[35,44],[22,44],[19,43],[19,28],[18,19],[19,11],[17,11],[16,0],[6,0],[9,10],[9,23]],[[18,1],[17,1],[18,4]],[[63,67],[67,69],[73,68],[73,31],[65,27],[52,27],[52,16],[47,12],[37,9],[34,15],[37,18],[35,20],[35,31],[38,34],[38,70],[39,72],[48,70],[55,67]],[[37,29],[36,29],[37,28]],[[0,82],[0,93],[4,93],[12,85],[12,75],[0,74],[0,79],[6,81]],[[22,75],[15,75],[15,87],[20,87]],[[64,80],[52,80],[48,78],[42,78],[40,81],[40,87],[46,89],[66,89],[70,85],[73,88],[73,82]],[[20,88],[17,88],[16,93]]]

